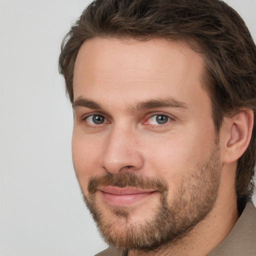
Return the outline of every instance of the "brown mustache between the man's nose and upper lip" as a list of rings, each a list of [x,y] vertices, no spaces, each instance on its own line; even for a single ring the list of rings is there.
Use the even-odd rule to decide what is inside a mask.
[[[134,172],[112,174],[110,172],[91,177],[88,183],[88,193],[94,194],[100,186],[132,186],[142,189],[154,189],[160,193],[167,191],[166,183],[158,177],[144,177]]]

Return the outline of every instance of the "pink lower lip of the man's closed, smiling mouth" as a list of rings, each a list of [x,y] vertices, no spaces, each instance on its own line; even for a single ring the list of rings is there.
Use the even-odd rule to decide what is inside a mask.
[[[135,193],[135,194],[111,194],[111,193],[106,193],[100,190],[100,193],[103,197],[103,199],[114,205],[129,205],[132,203],[135,203],[137,201],[140,201],[148,196],[151,196],[155,191],[152,192],[146,192],[146,193]]]

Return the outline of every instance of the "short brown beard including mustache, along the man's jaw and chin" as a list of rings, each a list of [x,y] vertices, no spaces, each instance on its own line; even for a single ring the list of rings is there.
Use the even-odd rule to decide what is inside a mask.
[[[216,144],[207,160],[198,162],[196,170],[182,178],[169,200],[167,183],[158,177],[145,177],[134,171],[90,178],[88,195],[83,193],[83,198],[105,242],[126,252],[132,249],[147,251],[184,237],[214,207],[220,183]],[[153,188],[160,194],[159,204],[150,218],[142,223],[130,223],[132,209],[129,207],[107,205],[102,210],[104,206],[99,205],[96,191],[99,186],[107,185]],[[111,212],[111,217],[106,217],[106,211]]]

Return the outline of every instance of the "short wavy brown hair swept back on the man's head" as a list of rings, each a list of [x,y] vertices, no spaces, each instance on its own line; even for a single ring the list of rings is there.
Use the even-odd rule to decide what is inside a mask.
[[[65,36],[59,71],[73,102],[73,69],[84,40],[99,37],[164,37],[195,41],[204,56],[212,117],[219,131],[223,116],[241,107],[254,112],[251,141],[238,159],[237,198],[253,192],[256,158],[256,47],[242,18],[221,0],[95,0]],[[192,45],[192,43],[191,43]],[[190,46],[191,46],[190,45]],[[192,46],[193,47],[193,46]],[[198,49],[197,49],[198,50]]]

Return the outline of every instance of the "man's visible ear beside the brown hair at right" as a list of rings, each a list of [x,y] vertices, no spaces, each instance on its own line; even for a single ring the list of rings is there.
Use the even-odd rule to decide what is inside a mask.
[[[253,111],[242,108],[234,116],[224,117],[223,155],[224,163],[236,161],[246,150],[253,127]],[[222,129],[221,128],[221,129]]]

